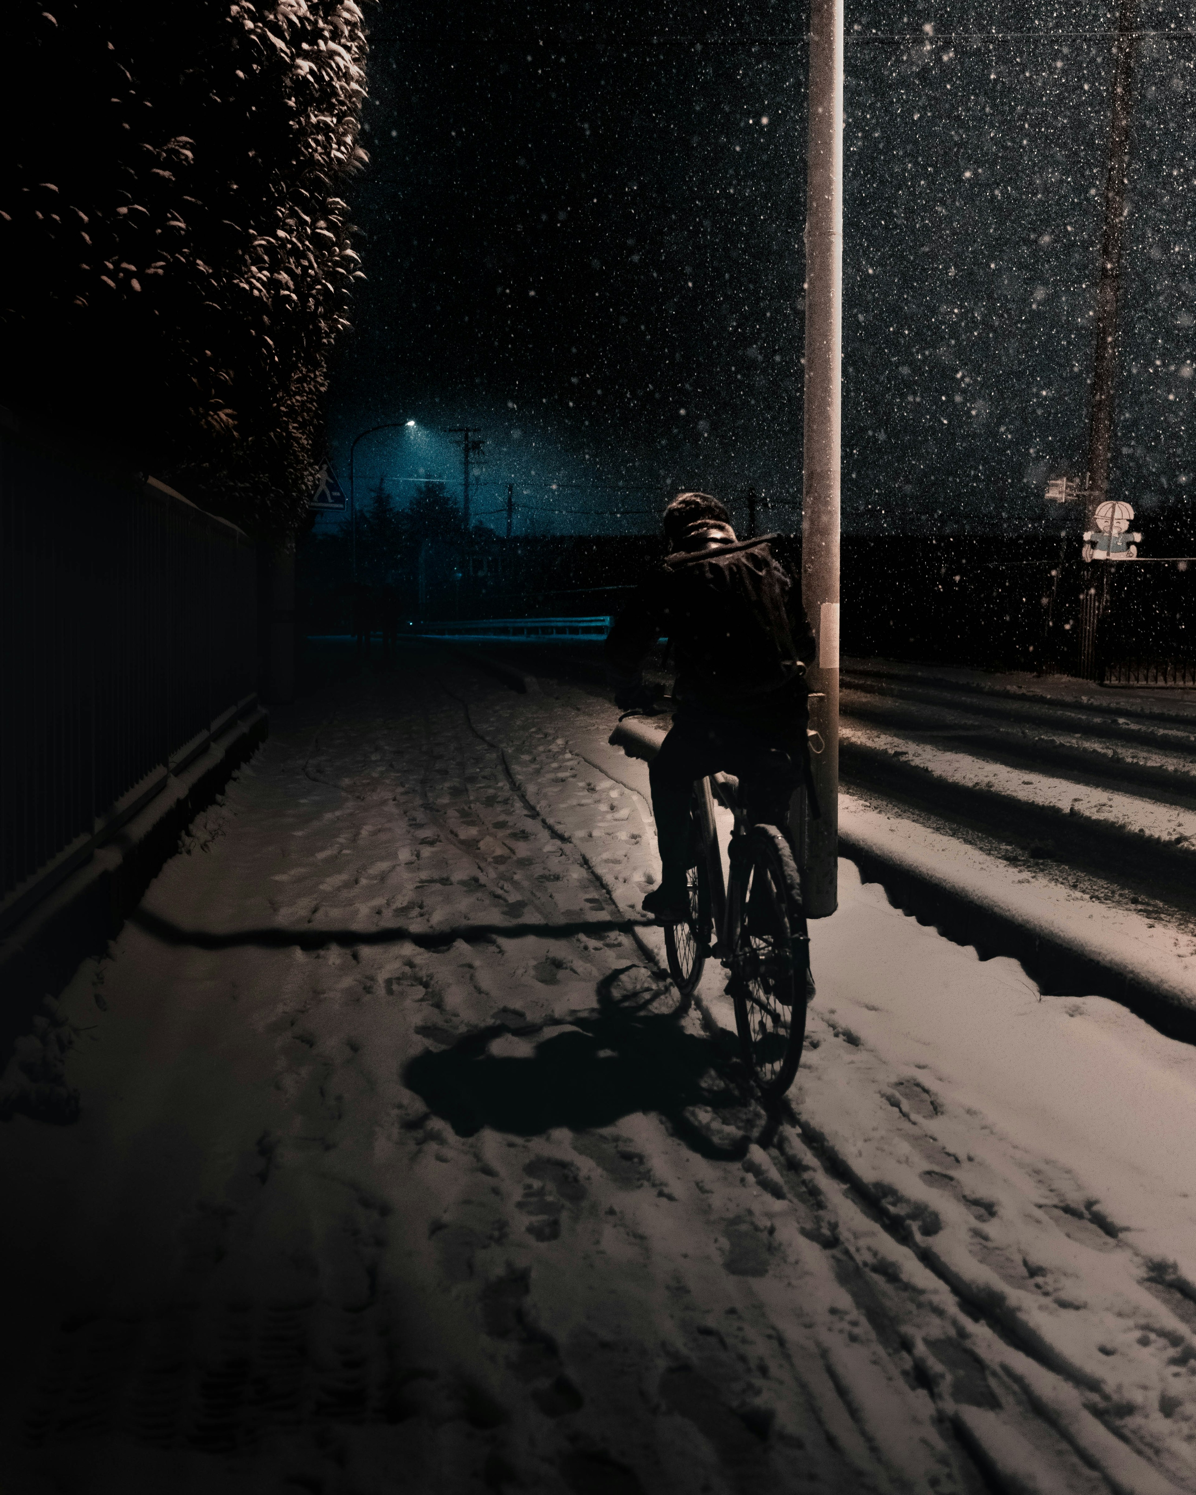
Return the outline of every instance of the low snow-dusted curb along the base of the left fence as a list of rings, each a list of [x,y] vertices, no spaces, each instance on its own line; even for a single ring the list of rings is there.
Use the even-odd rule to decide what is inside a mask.
[[[42,999],[70,981],[79,961],[102,954],[145,890],[178,849],[179,836],[266,739],[259,706],[235,722],[0,943],[0,1069],[30,1030]]]

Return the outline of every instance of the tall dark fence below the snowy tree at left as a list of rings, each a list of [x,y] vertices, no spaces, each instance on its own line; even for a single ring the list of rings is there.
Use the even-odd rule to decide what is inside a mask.
[[[254,549],[0,416],[0,927],[257,700]]]

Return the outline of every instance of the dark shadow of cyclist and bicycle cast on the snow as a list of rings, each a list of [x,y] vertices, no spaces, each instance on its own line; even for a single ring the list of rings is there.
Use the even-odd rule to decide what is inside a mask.
[[[540,1038],[519,1026],[490,1024],[451,1048],[417,1054],[402,1081],[459,1136],[483,1127],[516,1136],[553,1127],[580,1132],[655,1112],[704,1157],[743,1156],[748,1103],[728,1073],[736,1036],[689,1033],[676,1003],[668,1012],[653,1011],[658,994],[647,1000],[643,991],[623,994],[620,978],[631,969],[604,976],[598,1008],[571,1017],[562,1032]],[[505,1033],[532,1042],[531,1054],[492,1052]],[[694,1109],[704,1114],[704,1124],[691,1115]]]

